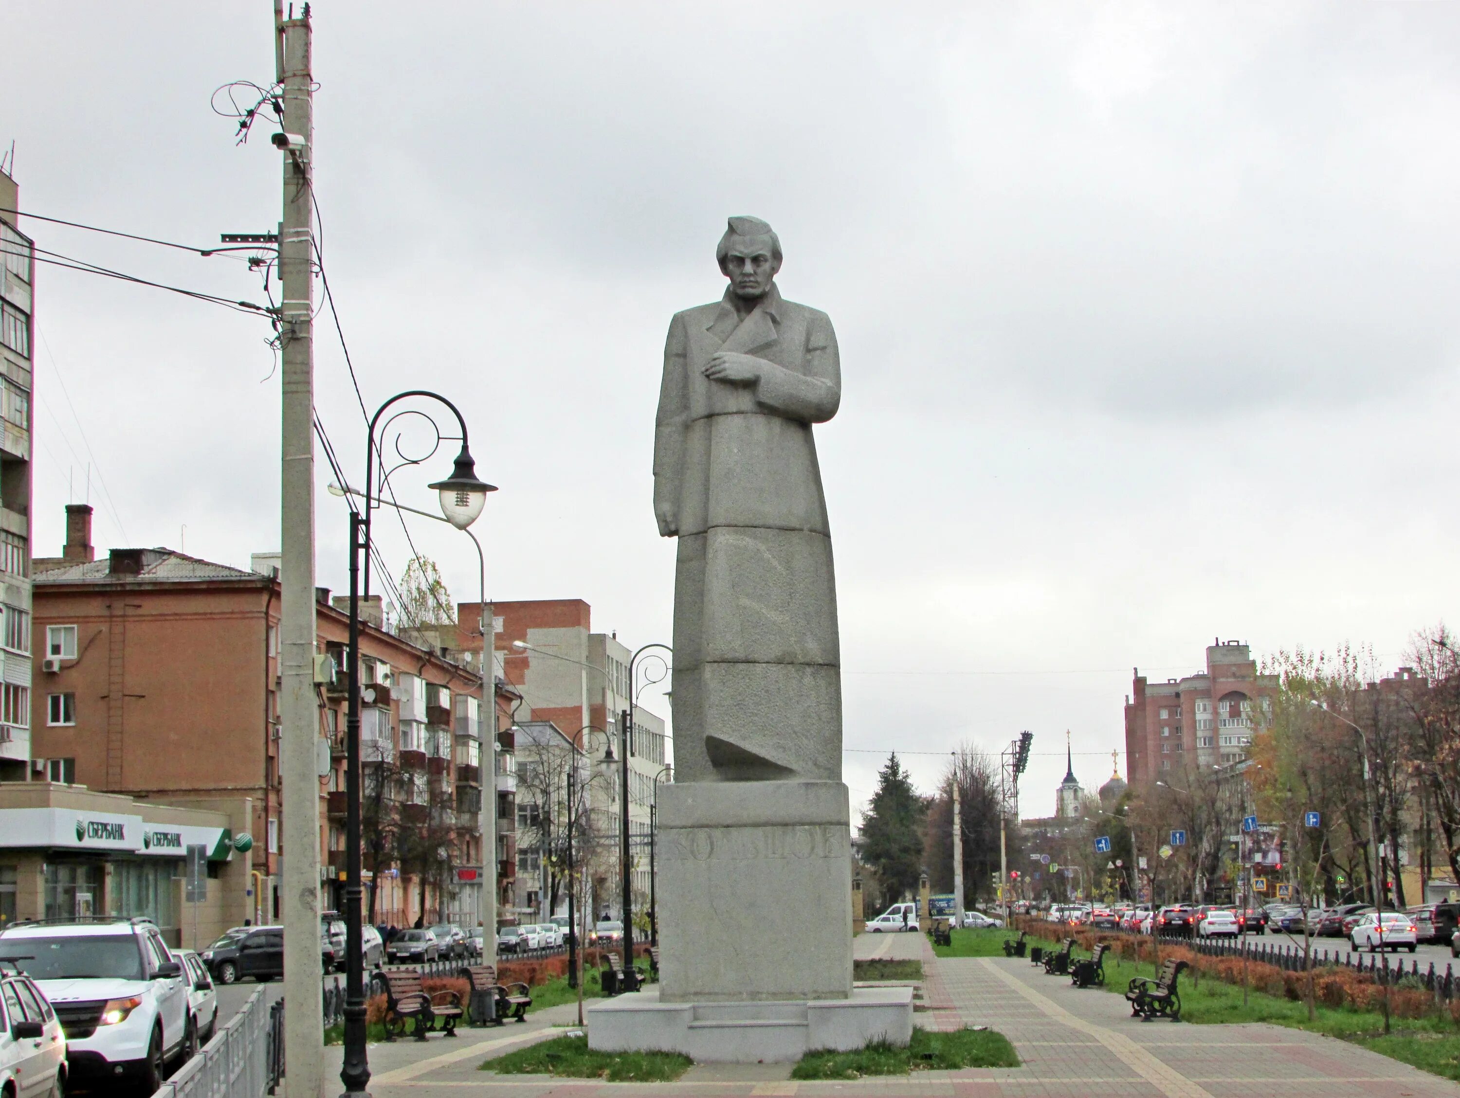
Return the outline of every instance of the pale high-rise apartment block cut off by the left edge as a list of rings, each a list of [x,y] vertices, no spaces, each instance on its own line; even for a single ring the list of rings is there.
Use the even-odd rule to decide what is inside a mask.
[[[0,781],[31,761],[31,342],[35,258],[0,172]]]

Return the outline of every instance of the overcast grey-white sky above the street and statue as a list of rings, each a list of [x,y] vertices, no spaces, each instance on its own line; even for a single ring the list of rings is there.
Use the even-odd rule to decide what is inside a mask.
[[[279,220],[270,4],[7,4],[0,149],[35,213],[206,245]],[[651,512],[664,331],[723,291],[727,215],[825,310],[816,428],[837,552],[845,778],[896,748],[1064,732],[1088,787],[1130,670],[1194,672],[1454,618],[1460,13],[1448,4],[314,4],[326,270],[374,409],[466,413],[501,485],[488,594],[581,597],[670,640]],[[42,248],[263,301],[257,276],[41,222]],[[279,543],[279,375],[256,318],[41,267],[35,552],[95,540],[247,567]],[[364,425],[317,327],[317,404]],[[438,461],[399,475],[432,510]],[[318,575],[345,587],[323,492]],[[383,523],[383,526],[385,526]],[[184,530],[185,527],[185,530]],[[460,534],[412,520],[458,599]],[[399,575],[407,549],[388,526]],[[1121,756],[1124,769],[1124,756]]]

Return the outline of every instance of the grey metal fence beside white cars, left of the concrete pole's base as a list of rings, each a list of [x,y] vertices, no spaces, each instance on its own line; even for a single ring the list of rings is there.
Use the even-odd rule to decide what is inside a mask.
[[[153,1098],[263,1098],[283,1078],[283,1002],[258,988]]]

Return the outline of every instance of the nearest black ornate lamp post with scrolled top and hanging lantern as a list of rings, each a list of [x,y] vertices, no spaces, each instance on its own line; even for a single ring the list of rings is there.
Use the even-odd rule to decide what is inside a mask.
[[[445,397],[425,390],[409,390],[397,393],[381,404],[369,421],[369,434],[365,447],[365,514],[350,508],[350,656],[349,656],[349,708],[345,721],[346,743],[346,835],[345,835],[345,1064],[340,1069],[340,1080],[346,1094],[365,1094],[369,1083],[369,1061],[365,1053],[365,958],[362,955],[361,937],[361,676],[359,676],[359,647],[361,647],[361,618],[359,591],[361,568],[364,558],[365,590],[369,591],[369,530],[372,496],[378,496],[378,488],[384,488],[391,470],[383,470],[381,483],[375,485],[375,429],[381,423],[381,416],[400,400],[409,397],[428,397],[451,409],[461,428],[460,435],[442,435],[435,421],[423,412],[403,410],[385,421],[388,428],[402,415],[419,415],[431,423],[437,432],[437,444],[429,453],[419,458],[407,458],[400,451],[397,437],[396,453],[402,456],[402,464],[420,464],[435,454],[442,439],[460,439],[461,451],[456,457],[451,476],[438,480],[431,488],[437,489],[441,498],[441,510],[458,530],[464,530],[486,505],[486,494],[495,492],[492,485],[476,476],[476,464],[467,445],[466,421]]]

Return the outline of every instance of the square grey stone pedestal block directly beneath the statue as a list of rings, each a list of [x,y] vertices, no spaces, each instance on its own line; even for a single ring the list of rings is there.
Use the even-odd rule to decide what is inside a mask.
[[[660,999],[850,996],[850,825],[840,781],[661,786]]]

